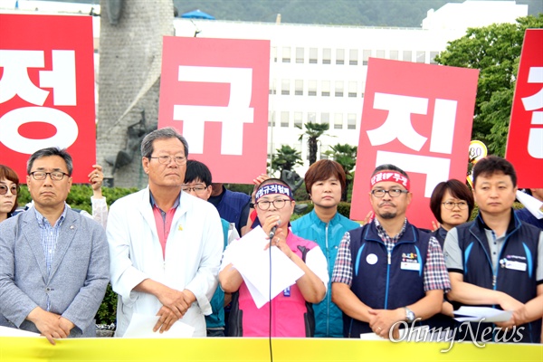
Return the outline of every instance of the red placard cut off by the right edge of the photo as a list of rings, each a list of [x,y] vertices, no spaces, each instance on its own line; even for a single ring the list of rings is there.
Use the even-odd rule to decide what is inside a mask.
[[[505,157],[519,187],[543,187],[543,29],[524,35]]]

